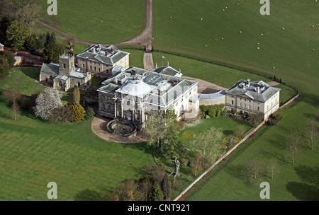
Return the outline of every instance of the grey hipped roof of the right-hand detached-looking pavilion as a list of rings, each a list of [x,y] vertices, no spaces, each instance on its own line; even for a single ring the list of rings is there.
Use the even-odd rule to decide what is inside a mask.
[[[259,88],[259,92],[258,92]],[[272,95],[280,91],[280,88],[269,86],[264,81],[240,80],[226,91],[232,95],[247,95],[252,100],[267,101]]]

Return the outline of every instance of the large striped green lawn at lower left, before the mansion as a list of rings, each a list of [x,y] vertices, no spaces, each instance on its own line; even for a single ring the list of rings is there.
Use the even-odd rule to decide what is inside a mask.
[[[0,116],[1,200],[45,200],[48,182],[57,182],[58,200],[86,189],[108,194],[153,162],[147,144],[103,141],[91,121],[50,124],[23,112],[14,122],[4,103]]]

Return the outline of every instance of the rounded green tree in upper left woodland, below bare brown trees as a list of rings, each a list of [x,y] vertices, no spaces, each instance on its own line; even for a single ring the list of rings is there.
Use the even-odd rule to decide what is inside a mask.
[[[31,33],[31,29],[15,20],[11,23],[8,30],[6,30],[7,38],[11,42],[11,47],[15,50],[22,50],[26,38]]]

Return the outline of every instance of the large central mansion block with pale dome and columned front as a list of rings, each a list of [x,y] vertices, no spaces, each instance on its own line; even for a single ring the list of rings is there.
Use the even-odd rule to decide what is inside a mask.
[[[142,125],[154,111],[174,110],[178,119],[186,111],[197,112],[199,103],[190,98],[197,94],[198,82],[179,74],[169,66],[154,71],[131,66],[118,71],[98,89],[99,115]]]

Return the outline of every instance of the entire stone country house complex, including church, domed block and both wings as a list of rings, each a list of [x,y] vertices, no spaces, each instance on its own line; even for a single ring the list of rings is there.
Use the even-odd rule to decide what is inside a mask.
[[[103,79],[99,93],[101,117],[134,122],[142,127],[152,112],[173,110],[180,120],[196,117],[199,105],[225,105],[226,110],[250,115],[261,113],[264,120],[279,109],[279,88],[264,81],[240,80],[227,91],[198,93],[198,82],[181,78],[181,70],[155,66],[152,71],[129,65],[128,52],[110,45],[91,45],[74,57],[63,54],[60,64],[43,64],[40,81],[67,91],[78,86],[86,90],[91,77]]]

